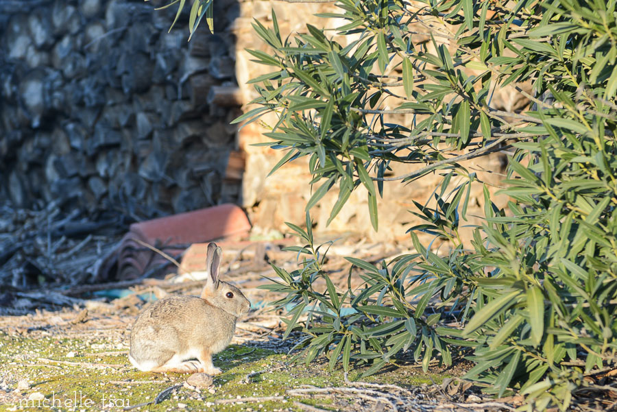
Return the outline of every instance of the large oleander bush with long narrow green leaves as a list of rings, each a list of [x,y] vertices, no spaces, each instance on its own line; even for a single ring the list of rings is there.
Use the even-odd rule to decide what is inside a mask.
[[[271,28],[254,23],[271,50],[250,53],[272,71],[252,80],[260,97],[237,121],[276,114],[267,144],[286,154],[274,170],[309,156],[306,210],[337,191],[330,219],[365,191],[378,230],[384,181],[438,173],[441,184],[415,204],[415,254],[378,266],[348,258],[359,288],[332,284],[308,213],[306,229],[289,223],[304,243],[291,248],[300,267],[275,267],[267,289],[286,293],[275,304],[289,309],[287,334],[302,332],[300,358],[324,354],[332,368],[373,374],[403,353],[424,369],[463,354],[475,363],[466,378],[495,396],[522,393],[529,411],[616,391],[615,1],[336,5],[322,16],[346,21],[337,32],[308,25],[282,38],[274,14]],[[507,84],[530,100],[526,110],[492,107]],[[401,113],[413,121],[392,120]],[[461,162],[505,149],[507,208],[485,186],[483,224],[461,239],[470,188],[484,184]],[[420,167],[389,176],[397,162]],[[447,241],[446,253],[418,232]],[[320,278],[324,290],[313,287]]]

